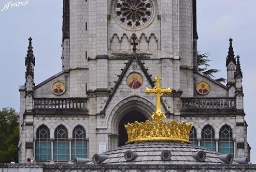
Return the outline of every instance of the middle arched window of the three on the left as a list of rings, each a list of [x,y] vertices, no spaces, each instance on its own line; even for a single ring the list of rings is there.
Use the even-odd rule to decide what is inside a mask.
[[[69,142],[67,129],[58,126],[54,132],[53,160],[55,162],[67,162],[69,160]]]

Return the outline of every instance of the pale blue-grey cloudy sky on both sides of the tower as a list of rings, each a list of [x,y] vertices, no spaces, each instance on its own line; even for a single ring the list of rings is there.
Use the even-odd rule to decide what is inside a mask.
[[[0,1],[0,108],[13,107],[19,111],[18,86],[25,83],[25,56],[30,36],[36,57],[35,83],[39,84],[61,71],[63,1],[30,0],[25,6],[1,11],[7,2]],[[225,59],[230,37],[233,38],[235,55],[241,57],[245,119],[254,164],[255,7],[255,0],[197,0],[198,51],[211,55],[211,68],[221,70],[217,77],[226,77]]]

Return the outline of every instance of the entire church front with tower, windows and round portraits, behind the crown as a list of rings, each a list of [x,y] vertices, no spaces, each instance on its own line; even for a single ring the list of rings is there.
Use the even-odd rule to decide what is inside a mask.
[[[195,0],[64,0],[62,32],[62,71],[37,85],[29,39],[20,162],[72,163],[123,146],[124,124],[151,120],[145,89],[157,76],[172,88],[166,120],[192,123],[193,145],[250,160],[239,56],[227,40],[226,85],[198,72]]]

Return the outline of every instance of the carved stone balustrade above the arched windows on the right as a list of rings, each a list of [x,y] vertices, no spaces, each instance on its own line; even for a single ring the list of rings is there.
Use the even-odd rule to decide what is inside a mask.
[[[181,98],[181,112],[236,111],[235,98]]]

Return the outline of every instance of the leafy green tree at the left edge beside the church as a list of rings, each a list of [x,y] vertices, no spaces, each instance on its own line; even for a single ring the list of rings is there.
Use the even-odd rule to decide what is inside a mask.
[[[19,120],[14,108],[0,110],[0,163],[18,162]]]

